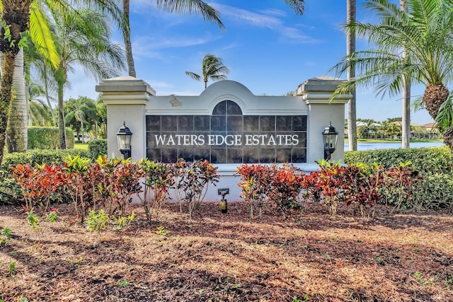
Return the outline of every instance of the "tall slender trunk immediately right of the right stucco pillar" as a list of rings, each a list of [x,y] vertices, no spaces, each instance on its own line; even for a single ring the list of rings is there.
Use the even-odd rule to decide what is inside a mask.
[[[346,22],[355,22],[355,0],[347,0]],[[346,54],[350,55],[355,52],[355,32],[348,30],[346,37]],[[348,81],[355,77],[355,66],[348,68]],[[355,89],[351,91],[352,98],[348,101],[348,145],[349,151],[357,150],[357,106]]]

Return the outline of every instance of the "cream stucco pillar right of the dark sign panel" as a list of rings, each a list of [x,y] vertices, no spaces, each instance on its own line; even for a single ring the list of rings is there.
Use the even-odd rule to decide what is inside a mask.
[[[308,79],[297,88],[297,95],[302,95],[309,106],[307,121],[306,163],[314,163],[324,157],[323,130],[329,122],[338,132],[336,151],[331,155],[332,161],[343,161],[345,153],[345,103],[352,97],[350,94],[336,95],[330,100],[333,92],[343,80],[329,77]]]

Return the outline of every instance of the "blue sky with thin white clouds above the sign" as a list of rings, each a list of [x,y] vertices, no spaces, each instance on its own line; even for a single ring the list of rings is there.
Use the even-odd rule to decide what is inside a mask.
[[[253,94],[285,95],[300,83],[328,73],[346,52],[341,29],[345,0],[306,0],[298,16],[283,0],[212,0],[226,30],[197,15],[164,13],[152,0],[131,1],[132,50],[137,78],[147,81],[157,95],[199,95],[204,83],[185,75],[201,74],[202,58],[214,54],[230,69],[229,80],[239,81]],[[365,13],[357,0],[357,20]],[[122,42],[121,35],[114,39]],[[357,50],[367,42],[357,41]],[[86,95],[96,99],[96,81],[76,69],[65,98]],[[124,74],[127,74],[125,71]],[[345,79],[345,74],[340,76]],[[213,83],[208,82],[208,85]],[[413,96],[423,87],[413,87]],[[357,118],[377,121],[401,117],[401,97],[377,97],[372,90],[357,90]],[[425,110],[413,112],[416,124],[432,122]]]

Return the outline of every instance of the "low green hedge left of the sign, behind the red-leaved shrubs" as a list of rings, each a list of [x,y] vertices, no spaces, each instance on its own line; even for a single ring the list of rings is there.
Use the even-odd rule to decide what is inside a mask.
[[[21,199],[20,187],[13,178],[9,177],[12,173],[11,166],[18,163],[30,165],[62,163],[68,155],[90,158],[88,151],[82,149],[30,150],[25,153],[5,153],[3,163],[0,165],[0,204],[17,203],[18,199]]]

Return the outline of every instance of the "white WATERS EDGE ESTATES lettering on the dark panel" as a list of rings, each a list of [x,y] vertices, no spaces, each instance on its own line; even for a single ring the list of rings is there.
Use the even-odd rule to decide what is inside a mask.
[[[174,134],[154,135],[157,146],[296,146],[297,134]]]

